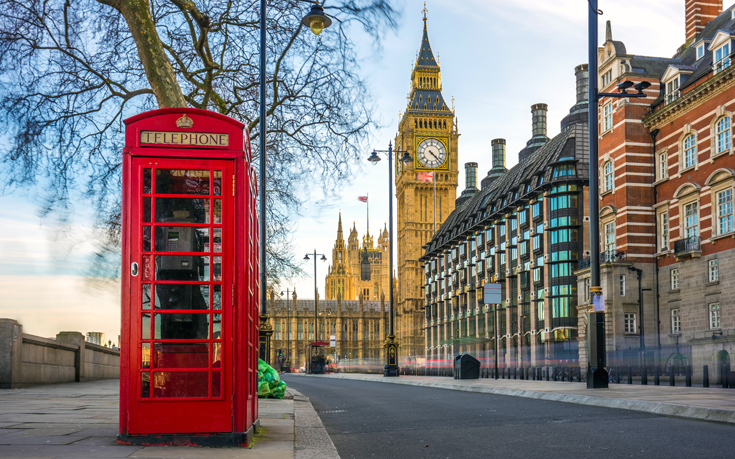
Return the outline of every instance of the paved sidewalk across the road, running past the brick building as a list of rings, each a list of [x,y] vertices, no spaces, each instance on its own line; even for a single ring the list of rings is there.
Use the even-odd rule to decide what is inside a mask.
[[[309,375],[309,377],[355,379],[509,395],[735,424],[735,389],[628,384],[610,384],[608,389],[587,389],[584,383],[579,382],[520,379],[455,380],[432,376],[385,378],[382,375],[354,373]]]

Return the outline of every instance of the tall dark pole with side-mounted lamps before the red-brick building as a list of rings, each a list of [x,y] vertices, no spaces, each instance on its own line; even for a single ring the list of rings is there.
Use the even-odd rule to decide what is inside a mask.
[[[641,98],[647,97],[643,91],[651,84],[647,81],[633,83],[623,81],[618,84],[615,93],[597,92],[597,16],[602,11],[597,9],[597,0],[588,0],[588,40],[587,50],[589,57],[589,158],[590,158],[590,309],[588,311],[588,363],[587,363],[587,388],[604,389],[608,387],[607,355],[605,349],[605,308],[602,298],[602,287],[600,286],[600,202],[598,183],[598,151],[597,151],[597,111],[598,101],[604,97],[613,98]],[[637,93],[629,93],[627,90],[633,87]],[[600,307],[595,307],[595,298]]]

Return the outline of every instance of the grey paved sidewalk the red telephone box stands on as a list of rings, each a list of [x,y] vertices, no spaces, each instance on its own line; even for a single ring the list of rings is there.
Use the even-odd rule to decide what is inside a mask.
[[[105,380],[0,390],[0,458],[339,458],[309,399],[293,389],[260,400],[251,448],[118,445],[118,388]]]

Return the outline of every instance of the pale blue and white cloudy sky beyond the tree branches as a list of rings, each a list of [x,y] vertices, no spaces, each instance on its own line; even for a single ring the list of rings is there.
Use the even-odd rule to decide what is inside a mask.
[[[314,264],[306,253],[331,260],[342,212],[345,232],[353,222],[365,233],[369,195],[370,228],[388,221],[387,161],[373,166],[373,149],[385,150],[396,134],[398,114],[406,108],[410,76],[421,43],[423,0],[398,0],[398,30],[388,31],[376,50],[369,37],[354,31],[361,72],[372,94],[370,104],[382,128],[374,132],[356,177],[344,184],[340,198],[326,202],[318,189],[294,222],[294,255],[305,276],[285,279],[283,290],[296,288],[302,299],[314,297]],[[628,53],[671,56],[684,41],[684,0],[601,0],[598,43],[605,21]],[[725,3],[725,8],[730,4]],[[507,141],[506,166],[531,138],[531,105],[546,103],[548,133],[575,102],[574,67],[587,62],[586,0],[428,0],[429,39],[442,71],[443,95],[454,98],[459,138],[461,193],[464,163],[477,162],[478,176],[491,168],[490,141]],[[394,204],[395,205],[395,204]],[[80,206],[81,207],[81,206]],[[77,210],[72,235],[59,238],[58,226],[39,216],[40,204],[22,193],[0,196],[0,318],[21,322],[24,332],[52,337],[59,331],[102,331],[117,342],[120,286],[85,277],[91,218]],[[395,259],[395,254],[394,254]],[[329,262],[317,261],[317,285],[324,292]],[[396,264],[397,266],[397,264]]]

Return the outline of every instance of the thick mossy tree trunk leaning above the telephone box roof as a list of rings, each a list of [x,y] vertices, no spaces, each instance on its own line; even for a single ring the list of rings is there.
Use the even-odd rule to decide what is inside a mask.
[[[120,11],[128,23],[158,108],[186,107],[184,93],[153,24],[148,0],[101,1]]]

